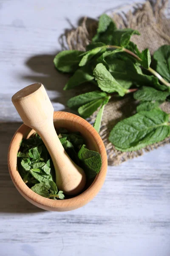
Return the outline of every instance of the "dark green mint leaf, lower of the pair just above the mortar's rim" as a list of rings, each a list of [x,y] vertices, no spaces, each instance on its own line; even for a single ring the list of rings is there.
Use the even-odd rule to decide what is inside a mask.
[[[91,116],[91,114],[94,113],[94,111],[96,111],[99,106],[102,104],[104,98],[102,99],[95,99],[85,105],[82,105],[81,107],[78,108],[78,112],[79,114],[83,117],[83,118],[87,118],[89,116]]]

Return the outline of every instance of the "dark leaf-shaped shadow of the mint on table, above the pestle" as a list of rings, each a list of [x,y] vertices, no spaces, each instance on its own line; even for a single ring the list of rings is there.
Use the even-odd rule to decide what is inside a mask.
[[[82,23],[83,19],[84,17],[81,17],[78,20],[77,26],[79,26]],[[51,54],[44,53],[44,54],[37,54],[37,55],[30,56],[26,60],[25,65],[31,71],[34,71],[34,73],[31,73],[31,74],[25,73],[21,76],[21,79],[26,79],[29,81],[29,83],[30,81],[32,83],[40,82],[45,86],[45,88],[47,88],[47,90],[54,91],[54,97],[52,98],[52,96],[50,95],[50,97],[52,98],[51,101],[62,104],[63,105],[62,110],[70,112],[71,110],[67,108],[66,102],[68,101],[68,99],[75,96],[75,92],[74,90],[63,91],[63,88],[71,75],[67,73],[64,73],[64,74],[59,73],[54,67],[54,62],[53,62],[54,57],[55,55],[57,55],[57,53],[59,53],[62,50],[68,49],[66,37],[68,33],[71,32],[72,29],[76,29],[71,24],[71,21],[69,19],[67,19],[67,22],[68,22],[68,26],[71,29],[65,29],[64,33],[59,36],[58,43],[61,49]],[[88,17],[86,20],[87,26],[89,26],[89,24],[91,24],[92,22],[94,22],[94,20]]]

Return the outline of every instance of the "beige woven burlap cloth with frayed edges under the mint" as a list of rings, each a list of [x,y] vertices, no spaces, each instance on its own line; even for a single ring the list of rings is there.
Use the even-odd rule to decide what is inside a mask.
[[[164,16],[164,10],[166,9],[168,0],[157,0],[154,6],[151,6],[150,2],[144,4],[136,4],[133,6],[133,10],[129,10],[126,14],[124,10],[122,12],[113,12],[114,22],[118,28],[132,28],[137,29],[141,33],[140,36],[134,35],[132,41],[138,45],[139,49],[149,48],[151,55],[161,45],[170,44],[170,19]],[[97,27],[96,21],[91,21],[88,24],[86,17],[84,18],[82,25],[77,29],[67,31],[66,41],[69,49],[85,50],[85,46],[90,43]],[[164,102],[161,108],[170,113],[170,103]],[[100,136],[105,143],[106,151],[108,154],[108,164],[118,165],[123,161],[132,159],[133,157],[141,156],[144,151],[150,151],[159,146],[170,143],[170,137],[147,146],[146,148],[133,152],[121,152],[115,149],[115,147],[109,142],[108,136],[117,122],[128,116],[131,116],[136,111],[136,102],[132,96],[113,97],[112,101],[106,105],[102,126],[100,129]],[[91,116],[91,122],[94,122],[96,113]]]

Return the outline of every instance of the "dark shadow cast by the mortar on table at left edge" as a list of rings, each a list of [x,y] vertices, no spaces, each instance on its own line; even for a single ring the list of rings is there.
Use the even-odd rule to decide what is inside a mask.
[[[35,207],[17,191],[8,172],[8,146],[21,123],[0,122],[0,212],[35,213],[44,210]]]

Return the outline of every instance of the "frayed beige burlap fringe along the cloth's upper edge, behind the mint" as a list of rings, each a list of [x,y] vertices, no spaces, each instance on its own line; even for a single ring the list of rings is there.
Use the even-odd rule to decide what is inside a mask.
[[[150,2],[147,1],[141,7],[139,4],[134,4],[132,7],[133,9],[137,8],[136,11],[129,10],[126,14],[124,12],[113,12],[110,16],[120,29],[139,29],[150,25],[162,38],[170,43],[170,36],[160,28],[162,20],[164,19],[164,10],[166,9],[167,3],[168,0],[157,0],[155,6],[151,6]],[[124,8],[127,7],[128,6],[125,6]],[[69,49],[83,51],[86,45],[91,42],[91,38],[96,32],[97,21],[90,23],[88,27],[86,26],[86,21],[87,17],[84,17],[81,26],[78,26],[76,29],[71,29],[62,35],[62,37],[66,37]]]

